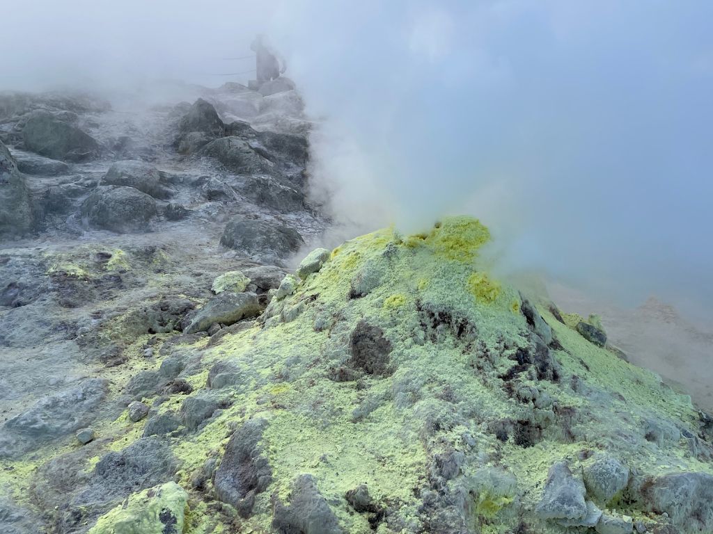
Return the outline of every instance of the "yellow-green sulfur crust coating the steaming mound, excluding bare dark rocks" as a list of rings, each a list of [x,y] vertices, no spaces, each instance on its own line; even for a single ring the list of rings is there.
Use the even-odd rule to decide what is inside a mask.
[[[461,484],[468,496],[468,528],[493,534],[513,532],[520,520],[543,532],[564,533],[540,523],[532,511],[550,466],[568,460],[577,471],[592,461],[583,451],[612,451],[638,473],[712,473],[683,441],[655,446],[643,438],[647,419],[674,421],[694,432],[698,416],[690,399],[652,372],[585,340],[574,330],[581,318],[565,315],[568,324],[563,325],[540,309],[558,341],[551,349],[556,380],[526,372],[508,375],[532,336],[518,290],[492,278],[479,263],[489,237],[476,219],[455,217],[418,236],[404,238],[384,229],[352,239],[335,248],[294,294],[273,300],[249,328],[210,346],[205,339],[190,342],[184,348],[200,355],[200,365],[183,374],[193,392],[170,396],[160,409],[178,410],[185,398],[205,393],[215,362],[235,366],[240,379],[218,390],[225,400],[222,411],[198,430],[168,439],[183,489],[161,486],[163,502],[170,504],[140,492],[125,508],[103,516],[91,532],[153,532],[158,507],[169,506],[178,518],[188,502],[186,533],[224,528],[269,533],[274,500],[287,503],[292,483],[304,473],[314,476],[345,533],[373,532],[366,515],[344,498],[361,484],[374,501],[397,511],[399,520],[415,529],[423,526],[421,496],[430,488],[434,456],[448,451],[467,459],[448,488]],[[355,284],[363,288],[356,296]],[[388,340],[389,372],[334,379],[349,365],[350,335],[361,322],[378,326]],[[127,365],[145,364],[136,357]],[[508,376],[515,379],[506,384]],[[575,391],[573,384],[583,385]],[[538,407],[518,399],[523,387],[538,392]],[[570,434],[554,423],[563,410],[573,414]],[[260,447],[272,481],[257,494],[253,515],[233,522],[237,515],[230,507],[220,512],[210,504],[215,495],[210,479],[200,492],[190,481],[206,461],[222,458],[232,431],[254,418],[267,421]],[[541,436],[528,446],[513,436],[497,439],[492,425],[503,421],[526,421],[540,427]],[[108,436],[105,450],[138,439],[144,423],[133,424],[135,431],[127,431],[128,424],[123,414],[96,425]],[[14,468],[18,478],[4,476],[0,482],[21,484],[51,456],[5,462],[3,467]],[[508,473],[513,483],[506,490],[473,485],[479,470],[490,468]],[[642,518],[633,503],[622,500],[617,506]],[[128,517],[148,530],[126,530],[133,528]],[[381,523],[377,532],[390,530]]]

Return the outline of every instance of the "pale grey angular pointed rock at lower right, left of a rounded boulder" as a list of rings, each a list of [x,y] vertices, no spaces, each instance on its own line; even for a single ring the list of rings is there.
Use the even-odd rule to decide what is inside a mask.
[[[572,476],[567,464],[557,462],[550,467],[535,513],[542,519],[583,519],[587,515],[585,492],[584,483]]]

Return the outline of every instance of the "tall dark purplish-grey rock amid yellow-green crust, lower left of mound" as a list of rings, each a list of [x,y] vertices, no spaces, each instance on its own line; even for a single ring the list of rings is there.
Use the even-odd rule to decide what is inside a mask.
[[[243,517],[252,513],[255,495],[265,491],[272,480],[270,463],[260,448],[266,426],[265,419],[252,419],[240,426],[230,436],[220,467],[213,474],[217,498],[234,506]]]

